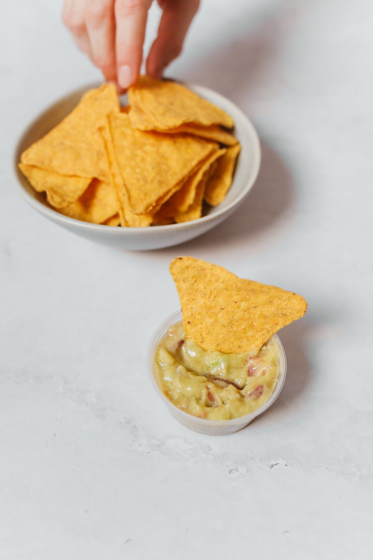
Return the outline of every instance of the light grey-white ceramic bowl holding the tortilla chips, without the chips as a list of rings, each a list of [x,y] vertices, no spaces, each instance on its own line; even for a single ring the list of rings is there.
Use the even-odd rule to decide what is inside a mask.
[[[207,215],[199,220],[176,223],[169,226],[101,226],[63,216],[63,214],[56,212],[48,202],[46,202],[44,194],[36,193],[35,190],[32,189],[27,179],[17,167],[21,153],[58,124],[60,120],[77,105],[79,99],[87,89],[97,87],[98,84],[91,84],[79,88],[63,97],[46,109],[43,114],[37,116],[25,133],[23,133],[15,153],[17,183],[20,186],[20,192],[23,197],[37,212],[40,212],[57,225],[92,241],[119,249],[160,249],[193,239],[193,237],[204,234],[206,231],[217,226],[220,222],[225,220],[225,218],[228,218],[235,208],[239,206],[257,178],[261,158],[259,139],[251,122],[232,101],[229,101],[226,97],[223,97],[223,95],[209,90],[206,87],[196,86],[191,83],[185,83],[185,85],[202,97],[219,105],[232,116],[235,122],[235,135],[242,146],[233,184],[227,197],[219,206],[211,208]]]

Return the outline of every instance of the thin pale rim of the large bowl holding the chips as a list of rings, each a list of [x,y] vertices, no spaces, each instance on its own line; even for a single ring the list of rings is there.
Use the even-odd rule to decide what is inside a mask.
[[[252,167],[252,172],[251,172],[251,176],[249,177],[249,180],[245,183],[245,185],[243,186],[242,190],[238,193],[237,197],[235,197],[234,200],[232,200],[232,202],[230,202],[228,204],[228,206],[225,206],[223,208],[217,209],[215,212],[211,213],[211,214],[207,214],[206,216],[202,216],[201,218],[197,218],[197,220],[192,220],[189,222],[182,222],[182,223],[171,223],[168,225],[164,225],[164,226],[156,226],[157,227],[157,232],[172,232],[172,231],[178,231],[178,230],[183,230],[185,228],[188,227],[192,227],[193,224],[200,224],[200,223],[209,223],[211,221],[215,221],[216,219],[218,219],[220,216],[223,216],[225,213],[229,213],[229,211],[233,211],[233,209],[242,201],[242,199],[247,195],[247,193],[249,192],[249,190],[251,190],[252,186],[254,185],[257,177],[258,177],[258,172],[259,172],[259,168],[261,165],[261,146],[260,146],[260,141],[259,141],[259,137],[258,137],[258,133],[254,127],[254,125],[252,124],[251,120],[248,119],[248,117],[243,113],[243,111],[237,106],[235,105],[235,103],[233,101],[231,101],[230,99],[228,99],[228,97],[225,97],[224,95],[220,94],[219,92],[215,91],[215,90],[211,90],[210,88],[206,87],[206,86],[201,86],[199,84],[196,83],[192,83],[192,82],[184,82],[181,80],[177,80],[178,83],[181,83],[183,86],[189,88],[190,90],[196,92],[197,94],[201,95],[202,97],[205,97],[207,100],[209,100],[209,95],[213,94],[213,96],[218,97],[218,100],[223,100],[223,104],[228,105],[228,109],[227,112],[229,113],[229,106],[231,108],[233,108],[233,111],[235,113],[237,113],[239,115],[239,118],[241,119],[241,121],[244,123],[245,127],[249,130],[250,132],[250,136],[252,138],[253,141],[253,167]],[[107,225],[103,225],[103,224],[96,224],[96,223],[91,223],[91,222],[84,222],[81,220],[75,220],[75,218],[70,218],[68,216],[64,216],[64,214],[61,214],[60,212],[56,211],[55,209],[51,208],[50,206],[45,206],[45,204],[39,202],[39,200],[37,200],[36,198],[32,197],[31,194],[29,194],[26,190],[26,188],[23,186],[22,184],[22,179],[21,179],[21,171],[18,169],[18,163],[20,162],[20,156],[21,156],[21,145],[23,143],[23,139],[27,136],[27,133],[29,133],[29,131],[36,125],[36,123],[43,118],[43,115],[45,115],[46,113],[48,113],[48,111],[50,111],[54,105],[58,105],[59,103],[63,102],[65,99],[67,99],[68,97],[74,96],[74,95],[79,95],[84,93],[84,91],[87,91],[90,88],[93,87],[98,87],[101,85],[102,82],[93,82],[93,83],[89,83],[87,85],[75,88],[75,90],[68,92],[67,94],[63,95],[62,97],[59,97],[59,99],[57,99],[56,101],[52,102],[50,105],[48,105],[48,107],[46,107],[44,110],[42,110],[39,114],[37,114],[35,116],[34,119],[32,119],[32,121],[29,123],[29,125],[27,125],[27,127],[23,130],[21,136],[18,138],[18,141],[16,143],[16,147],[15,147],[15,151],[14,151],[14,165],[13,165],[13,170],[15,172],[15,177],[16,177],[16,183],[17,183],[17,188],[18,191],[21,193],[22,197],[29,203],[31,204],[31,206],[33,206],[38,212],[43,213],[46,217],[50,218],[53,221],[57,221],[60,222],[62,224],[65,225],[70,225],[70,226],[75,226],[75,227],[81,227],[85,230],[90,230],[90,231],[100,231],[100,233],[104,233],[105,231],[110,235],[114,234],[114,235],[126,235],[126,234],[130,234],[130,232],[152,232],[153,228],[152,227],[117,227],[117,226],[107,226]],[[26,180],[26,179],[25,179]],[[116,233],[114,233],[116,232]],[[126,232],[126,233],[124,233]],[[105,235],[105,233],[104,233]]]

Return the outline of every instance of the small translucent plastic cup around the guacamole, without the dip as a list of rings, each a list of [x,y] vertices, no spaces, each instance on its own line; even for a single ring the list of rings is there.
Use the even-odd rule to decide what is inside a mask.
[[[281,393],[282,387],[284,386],[285,377],[286,377],[286,356],[284,347],[281,344],[280,338],[278,338],[277,334],[273,335],[276,339],[278,344],[278,360],[280,363],[280,372],[278,374],[278,380],[273,391],[270,399],[267,400],[260,408],[254,410],[251,414],[245,414],[245,416],[240,416],[239,418],[232,418],[231,420],[208,420],[205,418],[198,418],[196,416],[192,416],[192,414],[188,414],[184,412],[180,408],[176,407],[171,400],[163,394],[162,390],[159,388],[157,383],[157,368],[155,367],[155,351],[158,347],[158,344],[162,340],[162,338],[166,335],[168,329],[171,325],[178,323],[182,320],[181,311],[176,311],[172,315],[170,315],[167,319],[163,321],[161,325],[159,325],[158,329],[153,334],[152,340],[150,340],[149,348],[148,348],[148,372],[150,375],[150,380],[154,386],[155,391],[163,400],[164,404],[168,408],[169,412],[171,412],[172,416],[180,422],[189,430],[193,430],[194,432],[205,433],[210,436],[225,436],[228,433],[238,432],[242,430],[245,426],[247,426],[250,422],[253,421],[254,418],[259,416],[259,414],[263,414],[265,410],[270,408],[270,406],[275,402],[278,395]]]

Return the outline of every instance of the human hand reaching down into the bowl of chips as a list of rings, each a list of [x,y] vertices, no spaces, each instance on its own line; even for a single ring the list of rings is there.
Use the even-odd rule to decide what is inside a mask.
[[[139,76],[152,1],[64,0],[62,18],[75,44],[101,69],[107,81],[120,88],[128,88]],[[199,3],[158,0],[162,16],[146,62],[149,76],[161,77],[168,64],[180,55]]]

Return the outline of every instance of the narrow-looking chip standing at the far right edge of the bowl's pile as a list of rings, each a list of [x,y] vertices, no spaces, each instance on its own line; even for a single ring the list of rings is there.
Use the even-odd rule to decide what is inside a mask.
[[[215,174],[207,182],[205,192],[205,200],[211,206],[218,206],[226,197],[232,185],[234,166],[240,150],[240,144],[227,148],[224,155],[216,161]]]

